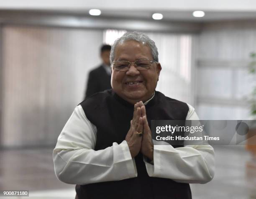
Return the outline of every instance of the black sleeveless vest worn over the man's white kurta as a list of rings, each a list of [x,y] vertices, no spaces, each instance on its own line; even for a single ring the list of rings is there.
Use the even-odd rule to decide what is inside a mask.
[[[92,95],[80,104],[86,117],[97,127],[95,151],[120,144],[130,128],[133,106],[112,89]],[[146,105],[149,127],[151,120],[185,120],[189,108],[186,103],[155,92]],[[174,146],[175,147],[175,146]],[[180,145],[179,145],[180,147]],[[189,184],[171,179],[149,177],[143,156],[135,157],[138,177],[77,185],[77,199],[192,199]]]

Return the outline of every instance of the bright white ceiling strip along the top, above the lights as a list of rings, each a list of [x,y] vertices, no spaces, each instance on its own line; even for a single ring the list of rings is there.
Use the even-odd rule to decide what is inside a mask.
[[[2,9],[159,9],[256,11],[255,0],[0,0]]]

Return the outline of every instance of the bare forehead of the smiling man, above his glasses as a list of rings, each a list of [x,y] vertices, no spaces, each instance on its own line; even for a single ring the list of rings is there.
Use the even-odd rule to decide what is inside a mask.
[[[153,59],[151,48],[138,41],[125,41],[116,46],[114,60],[135,61],[138,59]]]

